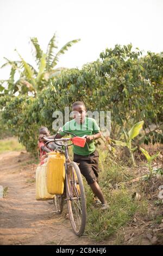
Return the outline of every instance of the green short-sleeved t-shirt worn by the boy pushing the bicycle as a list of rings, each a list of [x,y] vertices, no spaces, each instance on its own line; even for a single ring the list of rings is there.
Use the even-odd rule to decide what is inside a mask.
[[[85,118],[83,124],[78,124],[75,119],[72,119],[62,127],[62,130],[66,132],[72,132],[74,133],[74,135],[79,137],[82,137],[84,135],[93,135],[100,131],[95,119],[87,117]],[[66,135],[66,133],[62,131],[60,131],[59,134],[61,136]],[[71,135],[71,137],[73,136]],[[87,147],[87,145],[89,148]],[[73,145],[73,153],[82,156],[88,156],[89,154],[93,153],[95,149],[96,148],[93,141],[87,144],[85,143],[84,148]]]

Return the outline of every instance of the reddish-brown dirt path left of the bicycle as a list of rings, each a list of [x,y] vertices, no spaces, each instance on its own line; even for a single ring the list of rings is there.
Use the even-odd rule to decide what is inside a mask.
[[[96,245],[73,234],[69,220],[53,212],[49,201],[35,200],[35,168],[29,154],[12,151],[0,155],[0,185],[8,194],[0,198],[1,245]]]

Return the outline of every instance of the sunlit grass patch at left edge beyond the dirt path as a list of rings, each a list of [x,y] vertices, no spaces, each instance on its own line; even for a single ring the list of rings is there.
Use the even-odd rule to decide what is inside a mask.
[[[25,150],[23,145],[17,141],[17,138],[8,138],[0,140],[0,154],[8,151]]]

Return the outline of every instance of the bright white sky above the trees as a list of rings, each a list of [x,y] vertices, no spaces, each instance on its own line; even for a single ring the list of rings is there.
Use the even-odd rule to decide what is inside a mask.
[[[0,0],[0,66],[3,57],[18,59],[14,49],[34,64],[29,38],[42,49],[54,32],[58,46],[81,41],[60,58],[58,66],[81,68],[106,47],[129,44],[140,50],[163,51],[163,0]],[[0,70],[0,79],[9,70]]]

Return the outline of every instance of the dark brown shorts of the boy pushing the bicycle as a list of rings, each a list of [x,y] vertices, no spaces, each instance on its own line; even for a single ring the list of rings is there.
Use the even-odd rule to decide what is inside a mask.
[[[98,181],[98,151],[95,150],[89,156],[73,154],[73,161],[79,163],[80,172],[85,177],[87,184]]]

